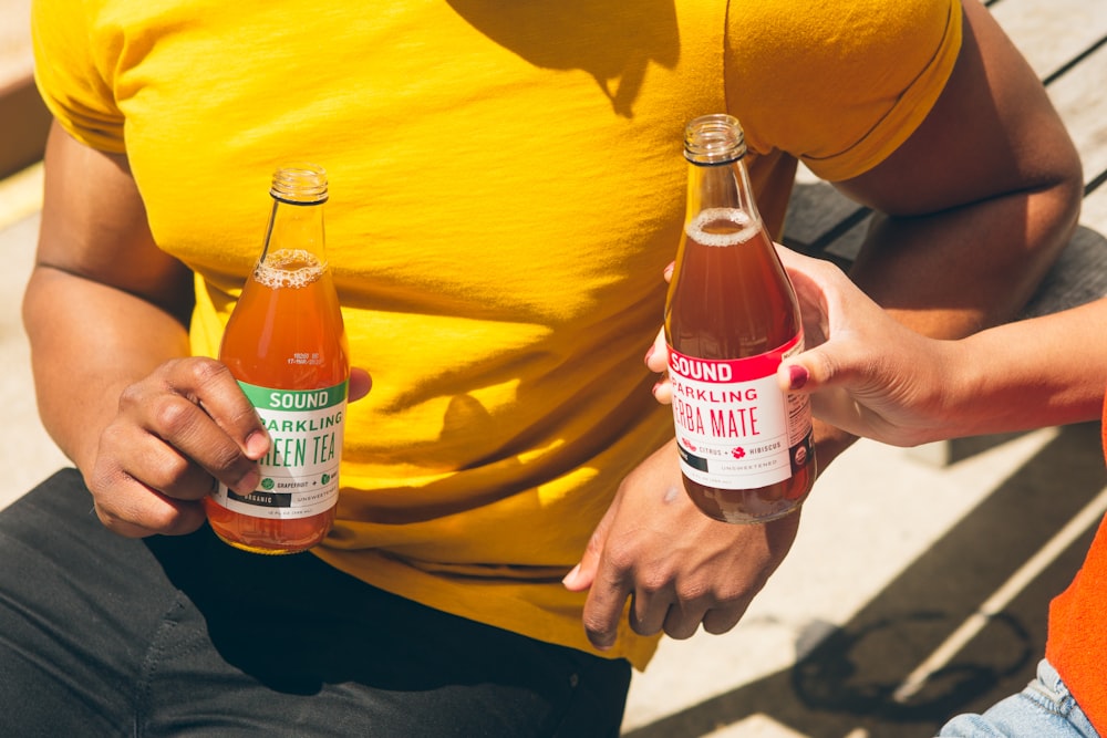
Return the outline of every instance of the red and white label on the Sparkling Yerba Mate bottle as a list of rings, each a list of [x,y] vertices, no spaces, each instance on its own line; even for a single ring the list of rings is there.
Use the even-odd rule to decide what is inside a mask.
[[[716,489],[757,489],[793,476],[808,443],[810,401],[780,391],[776,368],[804,350],[803,335],[749,358],[711,361],[669,350],[681,470]]]

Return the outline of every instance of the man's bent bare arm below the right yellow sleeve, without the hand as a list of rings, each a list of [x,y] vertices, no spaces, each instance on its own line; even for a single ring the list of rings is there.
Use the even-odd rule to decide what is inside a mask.
[[[1011,320],[1068,242],[1079,157],[1045,90],[976,0],[953,74],[887,160],[837,186],[877,211],[850,277],[904,325],[960,337]],[[851,439],[820,448],[825,468]]]

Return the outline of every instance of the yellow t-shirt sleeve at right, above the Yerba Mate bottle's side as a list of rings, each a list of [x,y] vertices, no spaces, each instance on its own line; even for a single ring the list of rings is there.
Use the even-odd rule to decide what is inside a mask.
[[[959,0],[732,0],[727,104],[753,150],[856,177],[927,117],[961,33]]]

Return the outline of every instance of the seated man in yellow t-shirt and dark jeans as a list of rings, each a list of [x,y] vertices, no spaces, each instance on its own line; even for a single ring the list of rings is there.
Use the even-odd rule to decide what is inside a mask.
[[[742,121],[776,235],[797,160],[886,214],[853,277],[932,335],[1013,315],[1080,197],[976,0],[38,0],[32,30],[55,122],[24,321],[75,469],[0,514],[15,735],[615,735],[632,665],[733,627],[799,522],[670,493],[641,354],[685,123]],[[199,500],[268,448],[213,356],[289,160],[329,173],[373,388],[331,534],[266,559]]]

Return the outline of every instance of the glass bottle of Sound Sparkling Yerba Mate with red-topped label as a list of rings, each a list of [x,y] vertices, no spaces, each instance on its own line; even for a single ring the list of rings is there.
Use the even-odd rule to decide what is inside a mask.
[[[687,215],[665,339],[684,487],[712,518],[756,523],[803,503],[815,455],[809,401],[776,384],[780,361],[804,349],[803,322],[745,153],[728,115],[687,125]]]

